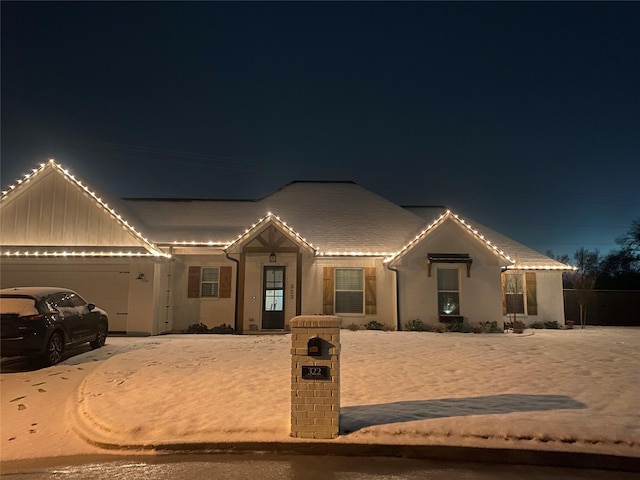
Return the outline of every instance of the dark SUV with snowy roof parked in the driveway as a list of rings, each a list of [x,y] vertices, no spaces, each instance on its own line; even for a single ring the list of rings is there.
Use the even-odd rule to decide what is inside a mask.
[[[62,360],[71,345],[102,347],[109,332],[104,310],[73,290],[57,287],[3,288],[0,323],[3,357],[37,357],[46,365]]]

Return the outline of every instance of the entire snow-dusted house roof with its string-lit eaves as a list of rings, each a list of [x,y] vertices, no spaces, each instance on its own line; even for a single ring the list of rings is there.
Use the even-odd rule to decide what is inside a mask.
[[[500,257],[506,268],[572,268],[445,207],[404,208],[353,182],[293,182],[259,200],[122,199],[116,212],[51,160],[4,191],[3,204],[45,169],[63,175],[155,256],[168,256],[159,246],[170,245],[214,246],[229,251],[263,222],[273,222],[316,255],[377,256],[393,264],[451,220]],[[134,228],[121,212],[137,219],[138,226]]]

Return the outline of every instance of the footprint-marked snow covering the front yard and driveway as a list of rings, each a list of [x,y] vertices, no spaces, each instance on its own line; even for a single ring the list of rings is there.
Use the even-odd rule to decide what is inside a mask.
[[[640,456],[640,329],[524,335],[341,331],[332,442]],[[296,442],[290,335],[109,338],[55,367],[3,373],[2,461],[141,446]]]

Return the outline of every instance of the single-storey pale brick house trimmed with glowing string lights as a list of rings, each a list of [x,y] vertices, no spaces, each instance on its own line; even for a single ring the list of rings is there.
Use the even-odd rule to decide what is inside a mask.
[[[75,289],[128,335],[280,332],[313,314],[398,329],[501,325],[513,312],[564,324],[571,268],[352,182],[294,182],[260,200],[110,199],[53,160],[3,191],[0,248],[3,288]]]

